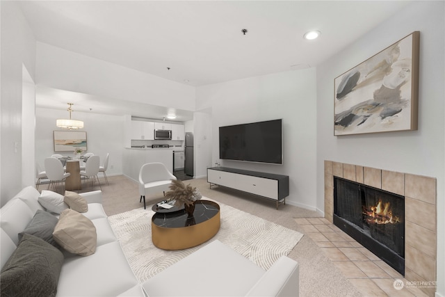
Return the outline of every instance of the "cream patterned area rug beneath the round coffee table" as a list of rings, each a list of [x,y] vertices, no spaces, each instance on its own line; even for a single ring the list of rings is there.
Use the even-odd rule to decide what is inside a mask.
[[[115,214],[108,220],[140,282],[152,278],[215,239],[267,270],[281,256],[289,255],[303,236],[245,211],[217,203],[220,205],[221,219],[218,233],[206,243],[185,250],[161,250],[153,245],[151,218],[154,211],[151,207]]]

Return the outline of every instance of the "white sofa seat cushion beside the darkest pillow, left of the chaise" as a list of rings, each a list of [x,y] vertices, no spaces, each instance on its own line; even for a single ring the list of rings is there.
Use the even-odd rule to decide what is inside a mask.
[[[117,296],[136,284],[120,243],[114,241],[98,246],[89,257],[67,257],[58,296]]]

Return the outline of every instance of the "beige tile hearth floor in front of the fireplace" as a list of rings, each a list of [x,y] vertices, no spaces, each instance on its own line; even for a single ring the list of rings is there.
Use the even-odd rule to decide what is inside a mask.
[[[406,284],[403,276],[325,218],[295,220],[363,296],[427,296],[418,288],[395,289],[395,280]]]

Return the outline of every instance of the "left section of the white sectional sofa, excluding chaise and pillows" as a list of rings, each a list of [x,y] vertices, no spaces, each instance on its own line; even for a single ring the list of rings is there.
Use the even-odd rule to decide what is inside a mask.
[[[18,234],[38,209],[40,193],[29,186],[1,207],[1,268],[17,248]],[[89,218],[96,227],[97,248],[93,255],[68,255],[58,278],[57,296],[145,296],[122,252],[102,208],[102,192],[81,194],[88,202]],[[33,255],[29,255],[33,257]]]

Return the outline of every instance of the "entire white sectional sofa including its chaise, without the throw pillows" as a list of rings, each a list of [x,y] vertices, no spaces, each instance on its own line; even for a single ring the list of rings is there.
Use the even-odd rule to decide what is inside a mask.
[[[220,241],[209,243],[140,284],[108,223],[102,192],[80,195],[88,202],[83,215],[96,228],[97,248],[86,257],[63,253],[56,296],[298,296],[297,262],[282,257],[264,271]],[[45,210],[39,196],[29,186],[1,207],[2,269],[17,248],[19,232],[29,225],[36,211]]]

